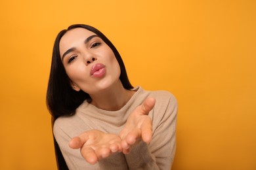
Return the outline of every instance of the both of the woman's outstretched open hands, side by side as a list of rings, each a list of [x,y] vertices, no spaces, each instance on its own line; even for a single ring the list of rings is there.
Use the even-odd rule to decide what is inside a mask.
[[[152,120],[148,116],[155,105],[155,99],[147,98],[127,118],[125,127],[119,136],[99,130],[85,131],[74,137],[70,148],[80,148],[81,155],[92,165],[116,152],[128,154],[131,146],[141,139],[150,143],[152,139]]]

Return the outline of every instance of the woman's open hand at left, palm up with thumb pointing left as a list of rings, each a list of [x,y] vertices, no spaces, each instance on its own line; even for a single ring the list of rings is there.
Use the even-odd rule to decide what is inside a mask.
[[[98,130],[86,131],[79,137],[74,137],[69,146],[74,149],[80,148],[83,158],[92,165],[111,154],[122,151],[119,136]]]

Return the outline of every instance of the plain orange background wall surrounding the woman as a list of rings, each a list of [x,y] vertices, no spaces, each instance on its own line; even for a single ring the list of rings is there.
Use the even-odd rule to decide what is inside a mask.
[[[56,34],[89,24],[134,86],[179,101],[173,169],[256,169],[256,1],[0,2],[0,169],[56,169],[45,93]]]

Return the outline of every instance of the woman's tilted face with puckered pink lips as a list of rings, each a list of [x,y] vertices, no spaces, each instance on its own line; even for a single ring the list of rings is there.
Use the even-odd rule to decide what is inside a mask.
[[[60,58],[74,90],[99,93],[119,81],[114,52],[95,33],[75,28],[60,39]]]

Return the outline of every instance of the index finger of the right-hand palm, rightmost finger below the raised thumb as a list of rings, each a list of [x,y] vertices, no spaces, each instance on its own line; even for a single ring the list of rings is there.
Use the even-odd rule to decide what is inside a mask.
[[[150,118],[144,120],[141,126],[142,141],[150,143],[152,139],[152,120]]]

